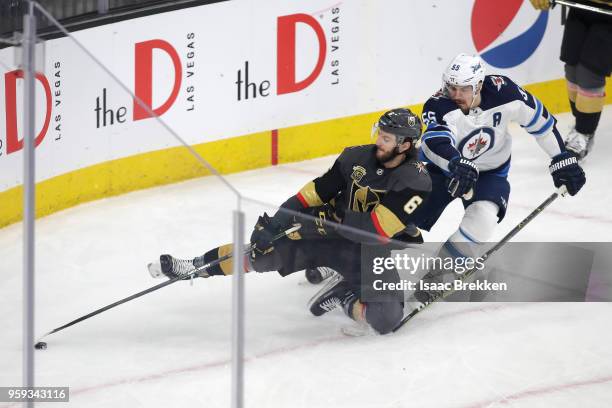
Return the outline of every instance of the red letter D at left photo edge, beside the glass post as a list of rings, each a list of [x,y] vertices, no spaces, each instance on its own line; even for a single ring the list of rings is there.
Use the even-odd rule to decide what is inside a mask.
[[[6,154],[11,154],[23,148],[23,139],[19,140],[17,134],[17,79],[23,78],[23,71],[11,71],[4,74],[5,83],[5,103],[6,103]],[[36,74],[36,79],[45,89],[45,122],[43,128],[34,139],[34,146],[38,146],[47,134],[49,122],[51,120],[51,87],[47,78],[40,73]]]

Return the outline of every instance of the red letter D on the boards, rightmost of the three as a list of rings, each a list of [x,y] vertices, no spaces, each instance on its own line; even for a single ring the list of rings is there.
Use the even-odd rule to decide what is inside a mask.
[[[319,57],[315,69],[306,79],[300,82],[295,80],[295,26],[297,23],[304,23],[310,26],[317,35],[319,41]],[[277,27],[277,94],[282,95],[291,92],[301,91],[314,82],[323,69],[327,43],[321,25],[308,14],[292,14],[278,18]]]

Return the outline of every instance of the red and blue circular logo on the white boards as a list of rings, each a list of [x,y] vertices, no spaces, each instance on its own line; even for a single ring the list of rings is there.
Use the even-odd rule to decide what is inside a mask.
[[[514,21],[522,5],[523,0],[474,1],[472,40],[482,59],[489,65],[497,68],[515,67],[525,62],[540,45],[548,22],[547,11],[540,12],[526,31],[489,48]]]

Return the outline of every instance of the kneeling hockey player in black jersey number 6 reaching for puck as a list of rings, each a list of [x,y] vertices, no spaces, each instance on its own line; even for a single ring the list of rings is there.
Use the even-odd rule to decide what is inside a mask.
[[[341,306],[354,320],[384,334],[402,319],[403,297],[361,301],[362,245],[387,242],[414,222],[431,180],[416,160],[414,143],[421,136],[417,115],[394,109],[374,129],[376,144],[346,148],[325,174],[287,199],[274,216],[259,217],[251,235],[255,249],[245,264],[248,271],[278,271],[281,276],[318,266],[335,269],[339,275],[312,299],[311,312],[318,316]],[[273,241],[294,223],[302,225],[299,231]],[[149,271],[154,277],[189,275],[231,251],[228,244],[189,260],[161,255]],[[231,273],[227,260],[200,276]]]

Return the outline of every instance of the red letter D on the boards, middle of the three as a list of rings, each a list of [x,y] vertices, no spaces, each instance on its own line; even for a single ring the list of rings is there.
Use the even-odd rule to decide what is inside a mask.
[[[165,51],[172,59],[174,65],[174,86],[170,96],[159,108],[153,109],[153,49]],[[157,116],[163,115],[176,100],[181,87],[181,60],[176,50],[164,40],[151,40],[136,43],[135,51],[135,94]],[[146,119],[149,113],[136,100],[134,100],[134,120]]]

